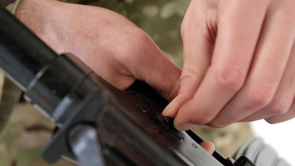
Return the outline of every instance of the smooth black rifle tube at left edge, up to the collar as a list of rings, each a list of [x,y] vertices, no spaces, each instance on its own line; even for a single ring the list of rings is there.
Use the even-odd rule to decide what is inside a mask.
[[[2,6],[0,20],[0,66],[25,91],[56,54]]]

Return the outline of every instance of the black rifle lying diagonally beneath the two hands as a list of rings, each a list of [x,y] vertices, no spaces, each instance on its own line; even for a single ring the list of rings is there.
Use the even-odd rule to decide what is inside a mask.
[[[0,7],[0,68],[31,102],[56,123],[43,152],[82,166],[197,165],[252,166],[217,151],[206,152],[192,130],[177,131],[161,111],[167,101],[135,81],[121,91],[72,55],[57,55]]]

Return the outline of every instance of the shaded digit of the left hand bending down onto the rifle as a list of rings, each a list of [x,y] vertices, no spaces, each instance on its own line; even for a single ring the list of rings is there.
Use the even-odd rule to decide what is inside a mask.
[[[136,79],[143,80],[167,100],[174,98],[179,91],[181,69],[172,63],[145,32],[140,32],[133,40],[132,56],[123,63]]]

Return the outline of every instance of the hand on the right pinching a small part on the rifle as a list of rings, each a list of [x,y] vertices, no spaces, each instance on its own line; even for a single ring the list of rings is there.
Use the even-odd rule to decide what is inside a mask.
[[[179,130],[295,117],[295,1],[191,0],[181,25]]]

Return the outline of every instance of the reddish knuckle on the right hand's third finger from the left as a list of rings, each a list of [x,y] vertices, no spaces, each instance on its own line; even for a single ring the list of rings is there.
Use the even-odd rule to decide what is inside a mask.
[[[252,87],[247,97],[247,104],[250,107],[264,107],[271,102],[275,89],[267,84],[258,84]]]

